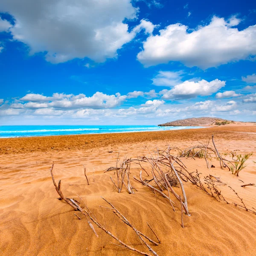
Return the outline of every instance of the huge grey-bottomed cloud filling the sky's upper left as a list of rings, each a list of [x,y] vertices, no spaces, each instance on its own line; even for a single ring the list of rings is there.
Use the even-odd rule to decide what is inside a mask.
[[[47,52],[52,63],[85,57],[103,62],[141,29],[154,29],[141,20],[129,31],[124,22],[137,19],[138,12],[130,0],[1,0],[0,9],[15,19],[13,39],[27,44],[31,54]]]

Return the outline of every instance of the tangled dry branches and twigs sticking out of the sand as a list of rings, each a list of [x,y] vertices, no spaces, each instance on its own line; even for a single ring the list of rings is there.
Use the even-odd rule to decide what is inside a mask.
[[[134,166],[139,167],[140,175],[139,177],[135,177],[134,181],[137,183],[140,183],[145,188],[147,188],[149,191],[153,192],[154,195],[160,195],[163,198],[166,198],[168,204],[172,207],[173,211],[180,210],[181,213],[181,227],[185,227],[183,223],[183,212],[190,216],[189,213],[189,207],[188,207],[188,201],[186,197],[186,192],[183,183],[191,182],[195,186],[197,186],[199,189],[207,193],[207,195],[215,198],[217,201],[225,201],[227,204],[230,204],[224,196],[221,194],[221,190],[217,188],[218,185],[227,185],[221,181],[219,177],[215,177],[213,175],[207,175],[204,177],[201,177],[201,173],[196,170],[195,172],[189,172],[186,168],[186,165],[183,163],[183,158],[191,157],[192,159],[195,159],[195,157],[198,158],[204,158],[207,163],[207,167],[211,167],[211,160],[213,157],[216,157],[219,162],[221,168],[228,168],[230,171],[232,171],[233,167],[230,167],[233,165],[233,163],[229,160],[224,159],[218,152],[214,139],[212,136],[212,143],[214,145],[214,148],[209,147],[209,141],[206,145],[201,144],[197,145],[195,147],[186,148],[184,150],[180,150],[177,147],[169,147],[164,150],[156,149],[155,151],[148,151],[148,155],[137,157],[137,158],[127,158],[120,159],[119,156],[117,157],[116,166],[111,166],[110,168],[106,169],[105,172],[114,172],[114,175],[116,175],[116,179],[111,178],[111,181],[113,182],[113,185],[117,189],[117,192],[121,193],[123,188],[126,188],[127,192],[129,194],[134,194],[134,191],[137,191],[135,188],[133,182],[130,180],[130,170],[131,166],[132,168]],[[173,151],[178,151],[177,155],[172,154]],[[249,154],[246,157],[238,157],[238,163],[241,163],[241,167],[238,168],[238,172],[232,172],[233,174],[236,174],[238,176],[238,173],[245,167],[244,162],[250,157],[251,154]],[[131,224],[128,219],[122,215],[122,213],[116,209],[116,207],[111,204],[108,200],[103,198],[105,202],[108,203],[110,207],[105,207],[108,209],[111,209],[113,213],[126,225],[131,227],[134,230],[135,235],[140,239],[140,241],[145,245],[145,248],[148,250],[148,252],[137,250],[136,248],[126,244],[125,242],[121,241],[117,236],[113,235],[109,230],[107,230],[104,225],[101,224],[100,221],[98,221],[93,213],[90,211],[90,209],[87,207],[87,205],[84,203],[81,197],[81,201],[84,203],[84,207],[81,207],[80,203],[73,198],[66,198],[63,193],[61,192],[61,180],[58,182],[58,186],[55,183],[54,176],[52,173],[52,168],[50,169],[51,175],[52,175],[52,181],[55,186],[56,191],[58,192],[60,199],[64,200],[67,204],[69,204],[73,209],[76,211],[80,211],[84,218],[86,218],[90,228],[93,230],[96,236],[98,234],[96,233],[96,230],[93,227],[93,224],[102,229],[105,233],[107,233],[109,236],[111,236],[113,239],[119,242],[122,247],[125,247],[129,250],[132,250],[134,252],[140,253],[145,256],[158,256],[158,254],[153,250],[152,245],[157,246],[160,244],[160,239],[157,237],[154,230],[150,227],[148,224],[148,227],[154,234],[154,236],[157,238],[157,242],[153,239],[149,238],[145,234],[141,233],[139,230],[137,230],[136,227],[134,227],[133,224]],[[236,163],[235,165],[236,166]],[[234,167],[236,168],[236,167]],[[145,175],[143,177],[143,174]],[[89,185],[89,181],[86,174],[86,167],[84,166],[84,175],[87,179],[87,184]],[[244,186],[248,186],[251,184],[247,184]],[[254,185],[254,184],[253,184]],[[232,189],[230,187],[230,189]],[[239,197],[239,195],[236,193],[234,189],[232,189],[239,200],[241,201],[241,204],[239,203],[232,203],[235,204],[235,206],[241,207],[245,209],[248,212],[252,212],[256,214],[256,209],[248,209],[242,198]],[[181,196],[182,195],[182,196]],[[176,203],[178,204],[175,204]],[[75,214],[76,215],[76,214]],[[78,215],[76,215],[77,218],[81,219]],[[117,244],[117,245],[119,245]]]

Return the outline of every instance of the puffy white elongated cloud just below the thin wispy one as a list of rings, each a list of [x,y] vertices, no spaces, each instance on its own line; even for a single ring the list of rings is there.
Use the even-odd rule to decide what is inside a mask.
[[[217,92],[221,87],[225,86],[225,81],[215,79],[213,81],[201,80],[185,81],[182,84],[177,84],[171,90],[162,90],[163,99],[189,99],[196,96],[209,96]]]

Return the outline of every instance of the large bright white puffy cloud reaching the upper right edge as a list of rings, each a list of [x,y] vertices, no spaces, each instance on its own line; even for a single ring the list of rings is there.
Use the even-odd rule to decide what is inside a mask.
[[[244,30],[233,26],[240,20],[228,21],[212,17],[205,26],[192,32],[183,24],[176,23],[160,30],[160,35],[151,35],[143,42],[143,50],[137,55],[145,67],[169,61],[180,61],[187,67],[217,67],[231,61],[239,61],[256,55],[256,25]]]

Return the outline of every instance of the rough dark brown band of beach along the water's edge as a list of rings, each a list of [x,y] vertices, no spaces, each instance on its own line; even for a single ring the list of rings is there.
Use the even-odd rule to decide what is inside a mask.
[[[256,126],[222,126],[190,128],[168,131],[141,131],[107,134],[72,134],[38,137],[1,138],[1,154],[30,152],[79,151],[105,146],[129,145],[131,143],[158,143],[205,141],[215,134],[215,139],[255,140]]]

